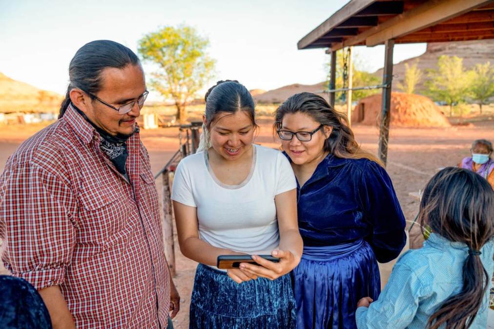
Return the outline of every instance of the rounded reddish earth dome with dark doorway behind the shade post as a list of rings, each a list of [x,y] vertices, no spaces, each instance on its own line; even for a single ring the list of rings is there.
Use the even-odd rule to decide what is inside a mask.
[[[359,101],[352,113],[352,123],[379,125],[381,94]],[[451,124],[430,98],[401,92],[391,93],[391,122],[399,127],[449,127]]]

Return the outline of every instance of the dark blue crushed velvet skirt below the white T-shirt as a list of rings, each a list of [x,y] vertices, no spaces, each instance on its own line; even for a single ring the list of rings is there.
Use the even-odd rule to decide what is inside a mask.
[[[199,264],[190,301],[191,329],[295,329],[290,275],[240,285],[226,272]]]

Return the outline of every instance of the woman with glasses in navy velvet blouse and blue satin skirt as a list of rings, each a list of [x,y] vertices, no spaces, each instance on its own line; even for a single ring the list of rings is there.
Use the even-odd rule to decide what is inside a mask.
[[[324,98],[295,94],[275,115],[297,178],[304,242],[292,272],[297,328],[357,328],[357,302],[380,293],[377,261],[396,258],[406,242],[391,179]]]

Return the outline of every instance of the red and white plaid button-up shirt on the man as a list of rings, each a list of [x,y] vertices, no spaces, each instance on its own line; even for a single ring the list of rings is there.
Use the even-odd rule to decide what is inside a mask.
[[[0,177],[2,260],[41,289],[59,285],[78,328],[166,328],[169,273],[158,193],[139,133],[130,184],[72,106],[9,158]]]

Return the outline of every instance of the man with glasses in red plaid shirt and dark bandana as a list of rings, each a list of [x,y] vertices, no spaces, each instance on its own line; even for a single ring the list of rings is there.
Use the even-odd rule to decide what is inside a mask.
[[[0,177],[2,260],[38,289],[55,329],[166,328],[180,297],[136,124],[148,95],[139,59],[92,41],[69,76],[59,120]]]

